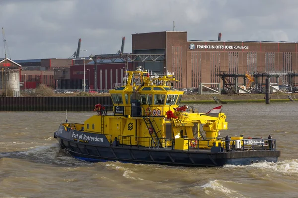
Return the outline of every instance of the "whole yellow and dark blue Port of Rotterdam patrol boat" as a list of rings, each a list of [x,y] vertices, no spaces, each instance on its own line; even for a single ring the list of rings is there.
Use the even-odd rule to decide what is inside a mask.
[[[220,130],[228,129],[222,106],[207,113],[179,107],[183,91],[173,88],[174,74],[150,75],[137,67],[126,71],[123,80],[122,86],[110,90],[112,107],[97,104],[96,114],[84,123],[62,123],[54,132],[75,158],[176,166],[277,162],[280,151],[270,135],[219,136]]]

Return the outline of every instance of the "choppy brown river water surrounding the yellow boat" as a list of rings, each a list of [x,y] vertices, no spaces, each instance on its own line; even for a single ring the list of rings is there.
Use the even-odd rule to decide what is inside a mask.
[[[216,104],[199,105],[208,112]],[[276,138],[278,163],[215,168],[88,163],[60,149],[65,112],[0,112],[0,198],[298,198],[298,104],[225,104],[221,136]],[[94,112],[68,112],[83,122]]]

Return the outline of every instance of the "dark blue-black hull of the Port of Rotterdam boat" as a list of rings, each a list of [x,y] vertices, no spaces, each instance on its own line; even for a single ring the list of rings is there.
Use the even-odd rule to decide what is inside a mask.
[[[170,148],[149,149],[130,146],[92,145],[66,139],[57,138],[61,147],[73,157],[91,161],[121,161],[142,164],[164,164],[173,166],[213,167],[231,165],[249,165],[258,162],[277,162],[280,151],[237,151],[218,152],[182,151]]]

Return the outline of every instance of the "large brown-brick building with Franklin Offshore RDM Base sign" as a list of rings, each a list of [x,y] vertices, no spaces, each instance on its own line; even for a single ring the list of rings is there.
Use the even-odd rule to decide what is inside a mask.
[[[187,40],[187,32],[164,31],[133,34],[132,50],[140,54],[165,54],[163,65],[146,63],[143,66],[174,72],[180,80],[175,84],[177,88],[222,83],[217,75],[222,71],[253,74],[298,70],[297,42]]]

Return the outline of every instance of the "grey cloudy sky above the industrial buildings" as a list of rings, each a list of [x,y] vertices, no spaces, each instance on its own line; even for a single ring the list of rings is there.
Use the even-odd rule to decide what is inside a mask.
[[[134,33],[187,31],[187,39],[298,41],[298,0],[0,0],[12,60],[116,53]],[[0,58],[5,50],[0,35]],[[81,57],[83,53],[81,52]]]

